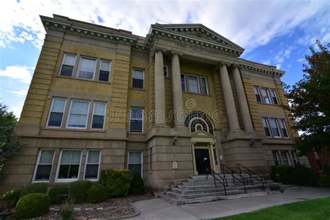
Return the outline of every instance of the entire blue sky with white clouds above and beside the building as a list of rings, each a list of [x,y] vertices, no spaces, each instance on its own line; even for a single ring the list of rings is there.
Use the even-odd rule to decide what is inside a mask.
[[[237,45],[242,58],[275,65],[285,84],[302,77],[315,41],[330,42],[330,1],[0,1],[0,102],[19,117],[45,30],[39,15],[63,15],[146,36],[150,24],[201,23]]]

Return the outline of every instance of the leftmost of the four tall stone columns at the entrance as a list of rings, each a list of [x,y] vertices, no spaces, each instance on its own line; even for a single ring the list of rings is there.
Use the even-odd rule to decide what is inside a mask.
[[[155,125],[165,125],[165,86],[163,52],[155,52]]]

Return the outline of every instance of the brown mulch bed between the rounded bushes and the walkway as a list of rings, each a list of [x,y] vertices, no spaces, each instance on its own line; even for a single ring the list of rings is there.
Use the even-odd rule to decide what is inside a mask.
[[[127,196],[123,198],[109,198],[98,204],[74,204],[74,219],[99,219],[128,217],[137,212],[132,207],[132,202],[154,198],[151,194],[143,196]],[[49,212],[42,219],[61,219],[61,205],[51,205]]]

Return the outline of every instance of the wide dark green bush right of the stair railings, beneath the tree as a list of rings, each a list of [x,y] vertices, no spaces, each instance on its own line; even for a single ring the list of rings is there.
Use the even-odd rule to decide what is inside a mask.
[[[278,174],[283,184],[298,184],[317,186],[317,176],[311,168],[297,164],[295,167],[288,165],[272,166],[272,175]]]

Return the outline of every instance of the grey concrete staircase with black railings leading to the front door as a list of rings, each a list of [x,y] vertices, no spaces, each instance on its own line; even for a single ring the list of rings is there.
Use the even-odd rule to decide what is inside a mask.
[[[220,174],[224,178],[223,174]],[[249,175],[243,174],[243,177],[249,177]],[[214,180],[212,175],[194,175],[186,181],[179,184],[177,187],[167,191],[166,194],[162,195],[162,198],[168,203],[174,203],[176,205],[183,205],[189,203],[205,203],[210,201],[217,201],[221,199],[232,199],[232,198],[243,198],[249,196],[260,196],[265,194],[272,194],[274,191],[272,189],[279,189],[281,183],[273,182],[272,180],[267,180],[264,183],[265,191],[262,190],[261,182],[252,178],[247,178],[248,183],[246,184],[246,191],[244,191],[244,184],[235,180],[233,182],[233,177],[226,174],[226,180],[228,186],[226,186],[227,196],[225,196],[225,191],[223,185],[220,182],[217,182],[217,186],[214,185]],[[235,177],[242,177],[235,174]]]

